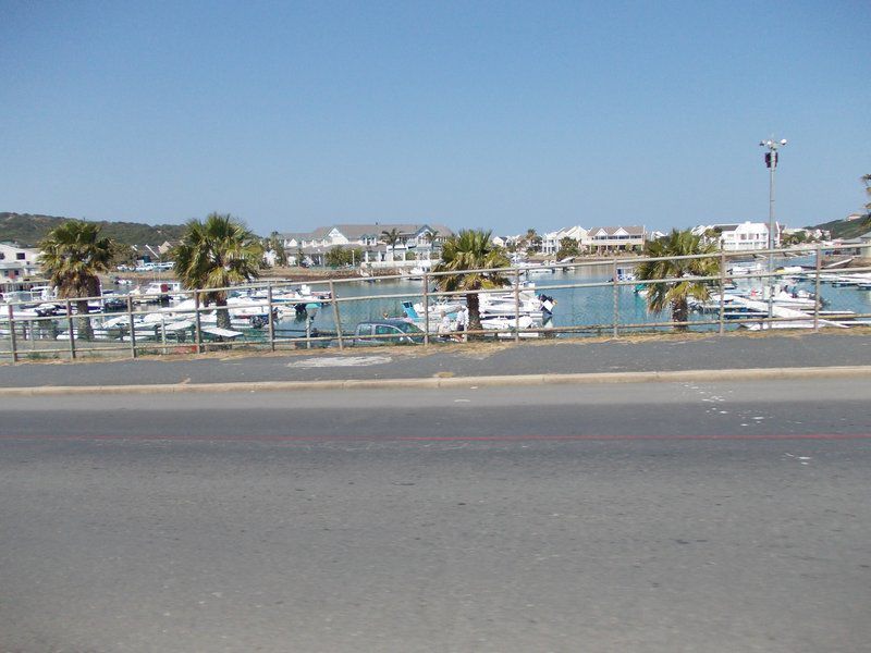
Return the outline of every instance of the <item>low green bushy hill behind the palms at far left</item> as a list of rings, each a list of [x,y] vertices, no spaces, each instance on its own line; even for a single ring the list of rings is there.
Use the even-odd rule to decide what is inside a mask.
[[[32,215],[29,213],[0,213],[0,241],[13,241],[24,247],[36,247],[48,232],[70,218]],[[161,245],[177,241],[184,233],[183,224],[143,224],[140,222],[98,222],[106,237],[127,245]]]

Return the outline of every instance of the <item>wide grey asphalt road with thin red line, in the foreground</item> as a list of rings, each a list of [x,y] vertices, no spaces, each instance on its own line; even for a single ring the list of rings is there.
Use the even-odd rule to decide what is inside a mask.
[[[0,651],[866,651],[869,396],[0,398]]]

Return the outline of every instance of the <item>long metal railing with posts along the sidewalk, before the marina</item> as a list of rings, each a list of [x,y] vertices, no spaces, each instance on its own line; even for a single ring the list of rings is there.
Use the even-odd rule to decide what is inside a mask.
[[[83,356],[130,357],[143,355],[170,355],[170,354],[201,354],[225,349],[267,349],[275,352],[286,348],[316,348],[336,346],[344,349],[347,346],[365,344],[395,344],[401,342],[420,342],[425,346],[436,345],[441,342],[456,342],[475,340],[478,337],[496,337],[520,342],[523,337],[536,336],[582,336],[582,335],[610,335],[619,337],[624,334],[639,331],[661,332],[671,329],[704,330],[723,334],[727,328],[750,326],[756,330],[773,329],[780,326],[801,326],[819,331],[822,328],[834,326],[841,322],[835,316],[822,311],[820,287],[824,281],[826,270],[822,267],[823,252],[832,247],[817,246],[814,249],[792,248],[777,250],[758,250],[755,256],[814,256],[813,270],[803,272],[805,283],[812,283],[814,293],[812,310],[800,311],[792,315],[788,311],[773,311],[761,315],[761,311],[750,312],[746,316],[733,315],[727,310],[726,291],[728,282],[734,274],[728,272],[729,261],[735,259],[746,260],[749,252],[724,252],[714,255],[692,255],[674,258],[645,258],[625,257],[614,258],[610,261],[578,261],[569,263],[547,263],[543,269],[553,271],[572,270],[580,271],[579,276],[566,280],[564,283],[550,283],[537,286],[536,293],[557,293],[571,291],[572,293],[598,293],[600,304],[606,301],[611,295],[610,319],[600,319],[590,323],[581,320],[561,319],[561,324],[538,323],[523,325],[522,317],[528,311],[524,310],[524,301],[528,303],[529,293],[522,287],[522,281],[527,268],[508,267],[487,271],[451,271],[425,272],[419,278],[419,285],[398,288],[401,292],[387,292],[377,294],[359,294],[360,287],[373,280],[341,279],[311,281],[305,284],[292,281],[273,280],[252,283],[232,288],[212,288],[208,291],[184,291],[175,293],[172,303],[167,301],[163,294],[152,295],[115,295],[123,301],[120,310],[108,312],[79,312],[83,303],[90,301],[105,306],[103,297],[71,298],[61,300],[47,300],[46,304],[54,305],[34,307],[34,303],[8,303],[0,305],[0,358],[8,358],[12,362],[38,360],[41,358],[68,358],[75,360]],[[720,271],[709,276],[682,276],[668,279],[639,280],[621,278],[623,268],[636,268],[646,261],[662,260],[691,260],[716,258]],[[605,269],[610,271],[610,279],[594,279],[597,274],[587,274],[585,269],[598,269],[598,276]],[[844,271],[844,270],[842,270]],[[871,271],[871,267],[849,268],[850,274]],[[440,280],[445,275],[457,275],[467,272],[486,272],[496,274],[513,286],[494,289],[480,288],[471,291],[444,291],[440,288]],[[757,283],[771,286],[774,282],[782,281],[787,273],[769,273],[760,267],[758,271],[743,275],[743,279],[752,279]],[[555,278],[554,278],[555,279]],[[871,279],[871,278],[869,278]],[[375,283],[391,281],[407,281],[404,274],[378,276]],[[695,317],[684,321],[661,319],[658,315],[646,313],[643,320],[633,320],[622,317],[622,308],[626,301],[626,289],[633,287],[640,291],[652,284],[703,283],[711,291],[719,292],[715,306],[708,304],[704,308],[715,313],[711,319]],[[417,284],[418,282],[412,282]],[[780,285],[780,284],[778,284]],[[871,288],[871,286],[869,286]],[[391,286],[390,289],[393,289]],[[217,307],[213,301],[216,291],[228,294],[244,295],[244,299],[229,299],[225,307]],[[496,326],[478,330],[467,330],[462,334],[439,333],[438,318],[433,317],[445,301],[465,299],[468,295],[501,293],[503,297],[513,299],[513,311],[507,311],[505,320]],[[356,293],[356,294],[355,294]],[[511,301],[508,299],[508,301]],[[397,301],[420,301],[421,312],[417,320],[417,331],[409,334],[397,333],[359,333],[357,325],[364,323],[377,324],[383,322],[384,306],[395,306]],[[118,304],[118,303],[115,303]],[[871,304],[871,301],[869,301]],[[156,306],[157,305],[157,306]],[[118,308],[118,307],[116,307]],[[220,311],[226,311],[219,317]],[[291,312],[293,311],[293,312]],[[604,307],[600,307],[600,315],[604,315]],[[394,316],[397,311],[393,311]],[[780,315],[778,315],[780,313]],[[787,313],[787,315],[784,315]],[[328,317],[324,317],[327,315]],[[320,325],[316,325],[316,318],[320,316]],[[671,316],[668,316],[671,317]],[[849,316],[854,322],[870,318],[867,310]],[[230,329],[226,326],[228,321]]]

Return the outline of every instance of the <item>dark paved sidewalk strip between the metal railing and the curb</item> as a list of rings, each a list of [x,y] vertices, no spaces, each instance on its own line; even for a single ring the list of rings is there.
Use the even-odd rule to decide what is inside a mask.
[[[871,366],[868,334],[358,347],[187,359],[0,366],[0,387],[124,386]]]

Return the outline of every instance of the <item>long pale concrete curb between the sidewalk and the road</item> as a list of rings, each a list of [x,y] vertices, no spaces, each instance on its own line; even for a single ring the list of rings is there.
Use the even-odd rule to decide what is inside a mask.
[[[586,383],[649,383],[682,381],[743,381],[764,379],[863,379],[871,366],[813,368],[750,368],[664,372],[594,372],[584,374],[518,374],[494,377],[436,377],[345,381],[253,381],[246,383],[163,383],[149,385],[40,385],[0,387],[0,397],[83,394],[175,394],[193,392],[290,392],[311,390],[446,389]]]

